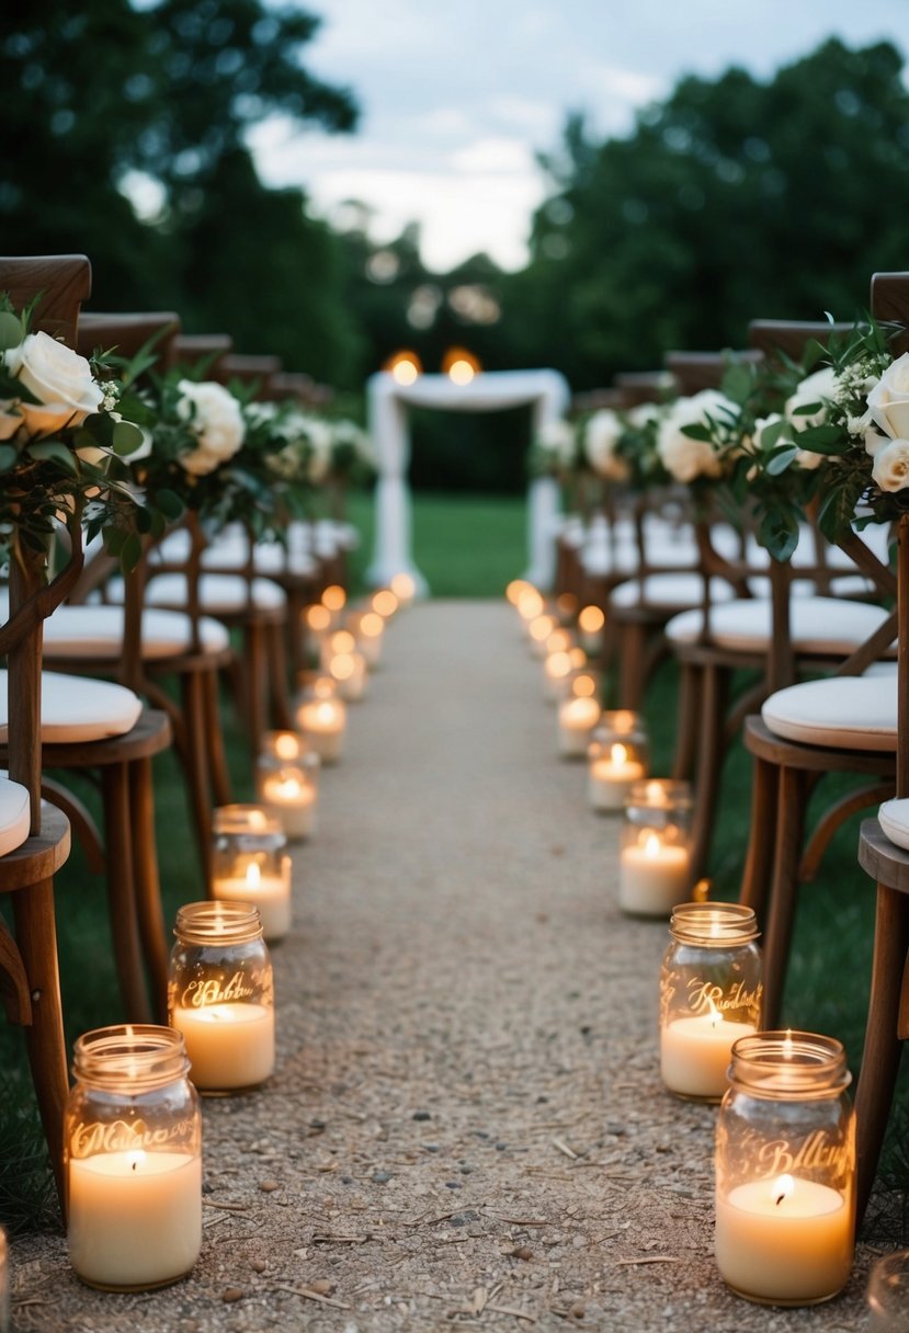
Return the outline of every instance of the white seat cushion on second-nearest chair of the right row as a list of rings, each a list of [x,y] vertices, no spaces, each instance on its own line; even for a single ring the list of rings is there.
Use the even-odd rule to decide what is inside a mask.
[[[892,753],[897,748],[897,677],[806,680],[770,694],[761,708],[769,729],[788,741]]]

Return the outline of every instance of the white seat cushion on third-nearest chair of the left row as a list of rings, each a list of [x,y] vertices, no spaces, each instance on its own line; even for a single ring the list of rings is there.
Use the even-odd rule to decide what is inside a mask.
[[[203,651],[220,653],[229,647],[228,631],[217,620],[199,621]],[[181,611],[143,612],[143,660],[189,652],[192,621]],[[44,621],[44,657],[117,661],[123,656],[123,607],[57,607]]]

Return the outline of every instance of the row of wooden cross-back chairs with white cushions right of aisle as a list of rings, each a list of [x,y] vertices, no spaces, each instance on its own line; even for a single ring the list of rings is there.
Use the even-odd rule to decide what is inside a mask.
[[[876,275],[872,312],[909,329],[909,275]],[[798,361],[809,340],[846,327],[756,321],[742,359],[780,353]],[[909,333],[893,353],[909,347]],[[673,355],[666,369],[682,396],[718,387],[729,357]],[[617,385],[629,405],[662,379]],[[618,392],[618,397],[616,397]],[[609,512],[612,507],[612,512]],[[574,520],[577,524],[577,520]],[[770,560],[722,519],[693,517],[684,489],[614,501],[589,515],[561,543],[561,591],[606,615],[620,706],[637,708],[665,653],[678,661],[674,777],[694,781],[693,866],[710,866],[724,757],[734,737],[754,760],[750,837],[741,901],[764,932],[764,1024],[778,1024],[801,882],[817,872],[833,833],[852,816],[894,794],[909,796],[909,516],[897,532],[873,525],[826,548],[805,515],[792,564]],[[609,529],[609,540],[604,532]],[[893,543],[896,556],[892,557]],[[568,539],[568,540],[566,540]],[[656,540],[654,540],[656,539]],[[568,576],[568,577],[566,577]],[[573,579],[573,581],[572,581]],[[750,673],[748,677],[744,673]],[[820,677],[820,678],[816,678]],[[733,681],[753,684],[733,697]],[[902,716],[900,716],[902,712]],[[808,830],[809,798],[825,774],[853,774]],[[874,969],[862,1072],[857,1089],[860,1216],[873,1184],[901,1041],[909,1036],[909,861],[862,825],[861,864],[878,881]],[[908,972],[909,974],[909,972]]]

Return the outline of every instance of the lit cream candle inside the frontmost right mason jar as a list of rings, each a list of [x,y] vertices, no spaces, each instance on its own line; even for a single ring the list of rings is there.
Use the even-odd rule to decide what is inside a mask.
[[[717,1193],[716,1206],[717,1266],[741,1296],[809,1305],[848,1282],[852,1208],[830,1185],[789,1174],[748,1181]]]

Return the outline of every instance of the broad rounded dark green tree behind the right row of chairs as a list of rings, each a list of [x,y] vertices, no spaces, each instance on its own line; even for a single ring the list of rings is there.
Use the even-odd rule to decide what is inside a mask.
[[[906,263],[901,68],[886,43],[830,40],[768,83],[682,79],[626,139],[569,119],[506,335],[545,331],[550,364],[590,388],[672,348],[741,347],[753,317],[850,319],[872,272]]]

